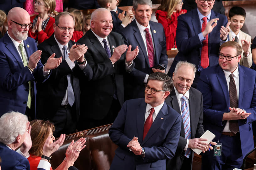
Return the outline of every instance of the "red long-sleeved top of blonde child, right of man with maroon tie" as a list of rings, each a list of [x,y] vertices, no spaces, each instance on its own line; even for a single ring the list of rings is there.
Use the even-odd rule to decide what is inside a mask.
[[[177,18],[180,15],[180,12],[187,13],[187,10],[182,9],[179,12],[173,12],[171,18],[167,18],[167,12],[157,10],[156,17],[157,21],[163,25],[165,37],[166,37],[166,49],[171,50],[173,46],[176,48],[175,37],[176,37],[176,29],[177,29]]]

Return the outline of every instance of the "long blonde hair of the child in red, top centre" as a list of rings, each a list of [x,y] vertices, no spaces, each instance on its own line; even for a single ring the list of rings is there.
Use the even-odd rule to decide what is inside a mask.
[[[162,0],[157,10],[166,11],[167,18],[171,18],[173,11],[180,0]]]

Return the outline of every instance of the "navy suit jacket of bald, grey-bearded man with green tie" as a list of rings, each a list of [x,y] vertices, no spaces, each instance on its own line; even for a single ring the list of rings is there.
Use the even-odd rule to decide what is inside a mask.
[[[37,50],[35,40],[28,37],[23,42],[29,58]],[[22,58],[8,34],[0,39],[0,116],[9,111],[25,113],[29,95],[28,81],[32,82],[32,95],[35,98],[35,82],[43,82],[49,77],[43,76],[42,67],[39,61],[34,72],[31,73],[27,66],[24,67]],[[34,101],[31,103],[33,110],[34,103]]]

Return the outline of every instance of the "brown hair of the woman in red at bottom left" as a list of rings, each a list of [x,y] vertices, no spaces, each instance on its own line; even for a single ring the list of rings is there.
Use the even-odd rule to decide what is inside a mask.
[[[50,135],[49,129],[51,128],[52,132],[54,131],[54,125],[49,121],[44,120],[32,120],[31,125],[31,140],[32,147],[29,150],[30,154],[41,157],[43,154],[43,147],[46,139]]]

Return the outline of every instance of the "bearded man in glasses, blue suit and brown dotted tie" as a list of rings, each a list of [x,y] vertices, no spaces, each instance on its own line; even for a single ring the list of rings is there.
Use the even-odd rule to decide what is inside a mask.
[[[218,146],[202,155],[202,170],[240,168],[254,148],[256,72],[238,64],[241,53],[237,42],[225,42],[219,64],[201,72],[197,88],[203,94],[203,125],[216,135]]]

